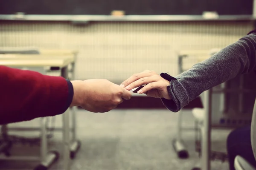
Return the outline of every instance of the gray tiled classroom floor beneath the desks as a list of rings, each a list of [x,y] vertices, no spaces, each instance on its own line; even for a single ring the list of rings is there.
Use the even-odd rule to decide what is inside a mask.
[[[190,170],[200,165],[193,130],[183,132],[189,159],[178,159],[173,150],[177,113],[165,109],[113,110],[97,114],[79,110],[77,118],[78,137],[82,145],[72,161],[72,170]],[[183,124],[185,128],[194,127],[191,112],[184,114]],[[38,120],[17,125],[38,126]],[[61,126],[60,116],[57,116],[55,125]],[[226,150],[227,134],[228,131],[213,130],[213,150]],[[61,133],[55,132],[54,135],[52,147],[61,152]],[[12,153],[36,155],[39,149],[15,146]],[[61,159],[50,170],[63,170]],[[0,170],[32,170],[36,165],[36,162],[29,161],[0,161]],[[212,170],[228,170],[227,163],[212,161]]]

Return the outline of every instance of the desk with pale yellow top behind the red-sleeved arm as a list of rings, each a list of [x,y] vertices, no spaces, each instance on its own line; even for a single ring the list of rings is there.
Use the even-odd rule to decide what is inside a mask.
[[[68,70],[67,67],[70,63],[74,62],[73,57],[69,56],[44,56],[44,55],[24,55],[24,54],[2,54],[0,55],[0,65],[6,65],[9,67],[59,67],[61,68],[61,76],[67,78]],[[46,118],[41,118],[41,158],[35,159],[35,157],[25,157],[30,160],[40,160],[41,164],[52,163],[56,159],[52,154],[47,154],[47,130],[46,130]],[[64,144],[64,170],[70,170],[70,122],[69,122],[69,109],[62,114],[63,119],[63,144]],[[13,156],[11,156],[12,159]],[[1,158],[2,159],[2,158]],[[9,158],[6,158],[9,159]],[[17,158],[19,159],[19,158]],[[20,159],[19,159],[20,160]]]

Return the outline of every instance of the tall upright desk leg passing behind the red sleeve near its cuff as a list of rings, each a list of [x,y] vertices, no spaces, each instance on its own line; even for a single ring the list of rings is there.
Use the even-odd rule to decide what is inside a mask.
[[[61,76],[66,78],[68,77],[67,66],[61,68]],[[69,125],[69,112],[68,108],[65,113],[62,114],[62,128],[63,128],[63,159],[64,167],[63,170],[70,170],[70,125]]]

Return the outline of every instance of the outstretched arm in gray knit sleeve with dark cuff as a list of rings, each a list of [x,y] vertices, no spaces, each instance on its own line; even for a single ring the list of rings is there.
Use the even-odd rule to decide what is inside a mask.
[[[162,99],[163,104],[177,112],[209,88],[255,70],[256,33],[252,33],[179,74],[168,87],[172,100]]]

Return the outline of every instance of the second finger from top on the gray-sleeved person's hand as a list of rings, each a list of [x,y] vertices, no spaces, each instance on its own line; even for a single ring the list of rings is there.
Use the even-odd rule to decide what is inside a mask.
[[[131,90],[137,87],[140,87],[141,85],[147,85],[151,82],[157,82],[160,80],[159,75],[154,75],[150,77],[143,77],[141,79],[136,80],[135,82],[131,83],[130,85],[126,86],[127,90]]]

